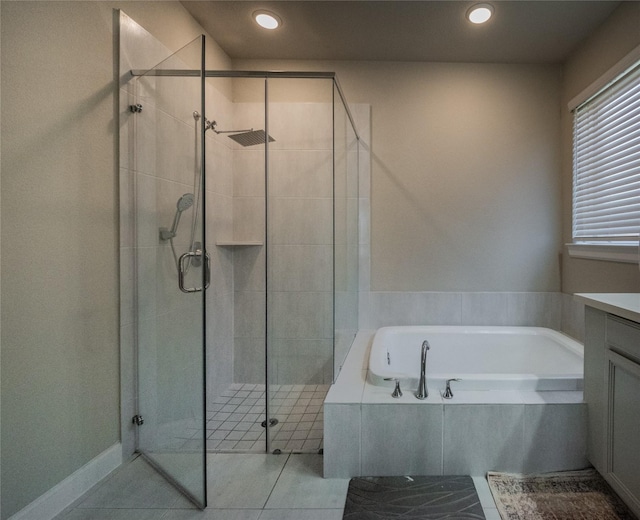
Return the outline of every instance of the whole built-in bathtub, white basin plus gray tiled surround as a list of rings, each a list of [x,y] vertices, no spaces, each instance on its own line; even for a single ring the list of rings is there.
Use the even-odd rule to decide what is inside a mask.
[[[425,339],[429,396],[419,400]],[[324,476],[484,477],[584,468],[587,410],[576,389],[582,350],[543,328],[360,330],[324,402]],[[395,376],[408,380],[398,398],[384,381]],[[445,399],[444,380],[454,377],[463,381],[452,383],[454,396]]]

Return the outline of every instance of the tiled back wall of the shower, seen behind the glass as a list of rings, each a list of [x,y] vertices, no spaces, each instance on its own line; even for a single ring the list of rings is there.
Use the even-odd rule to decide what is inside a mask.
[[[259,128],[264,105],[237,103],[234,127]],[[333,106],[270,103],[269,376],[333,377]],[[234,240],[264,241],[264,148],[234,150]],[[264,383],[265,248],[234,253],[234,379]]]

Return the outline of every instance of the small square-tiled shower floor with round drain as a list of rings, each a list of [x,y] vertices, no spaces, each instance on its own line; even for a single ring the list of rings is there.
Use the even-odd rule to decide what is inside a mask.
[[[322,448],[322,403],[329,385],[270,385],[269,451],[317,453]],[[264,452],[265,386],[234,384],[209,403],[207,450]]]

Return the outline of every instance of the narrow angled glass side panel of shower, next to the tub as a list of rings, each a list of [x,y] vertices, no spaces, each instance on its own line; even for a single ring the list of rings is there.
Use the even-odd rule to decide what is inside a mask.
[[[358,140],[334,85],[335,356],[338,377],[358,332]]]

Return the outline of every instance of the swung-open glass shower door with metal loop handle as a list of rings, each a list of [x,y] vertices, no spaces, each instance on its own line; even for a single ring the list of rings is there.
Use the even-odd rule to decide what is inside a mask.
[[[138,449],[206,505],[203,39],[136,80]],[[162,75],[190,69],[194,75]],[[195,114],[194,114],[195,112]],[[189,253],[191,256],[181,255]],[[179,264],[182,265],[180,269]]]

